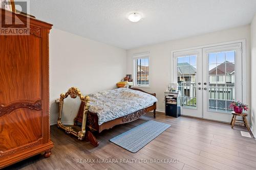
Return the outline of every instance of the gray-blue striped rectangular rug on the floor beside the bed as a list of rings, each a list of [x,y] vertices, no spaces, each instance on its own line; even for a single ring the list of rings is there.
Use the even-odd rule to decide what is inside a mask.
[[[150,120],[110,139],[110,141],[132,153],[136,153],[170,126]]]

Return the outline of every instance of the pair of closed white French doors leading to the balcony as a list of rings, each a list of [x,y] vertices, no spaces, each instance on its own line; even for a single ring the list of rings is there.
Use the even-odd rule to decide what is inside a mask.
[[[230,122],[232,101],[242,101],[242,43],[174,53],[181,114]]]

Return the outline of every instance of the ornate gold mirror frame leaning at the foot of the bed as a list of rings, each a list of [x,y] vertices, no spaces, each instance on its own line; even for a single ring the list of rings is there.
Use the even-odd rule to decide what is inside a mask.
[[[62,107],[63,107],[63,100],[66,99],[69,95],[72,99],[75,99],[77,96],[79,96],[81,102],[85,103],[84,107],[83,107],[83,118],[82,118],[81,131],[79,131],[79,132],[76,132],[72,127],[64,126],[60,121]],[[58,128],[65,130],[67,134],[75,135],[76,137],[78,137],[79,140],[84,139],[84,137],[86,135],[86,121],[87,121],[87,113],[88,113],[88,109],[89,109],[89,104],[90,104],[90,96],[82,95],[80,90],[76,87],[71,87],[68,90],[68,92],[61,93],[60,98],[59,98],[59,117],[58,117],[58,121],[57,121]]]

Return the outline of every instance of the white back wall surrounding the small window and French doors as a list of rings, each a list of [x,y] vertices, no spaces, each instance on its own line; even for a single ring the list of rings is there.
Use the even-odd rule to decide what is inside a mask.
[[[156,92],[159,100],[157,110],[164,111],[164,91],[173,74],[171,66],[173,50],[241,39],[246,39],[246,103],[250,104],[250,25],[128,50],[126,73],[133,73],[132,54],[150,52],[151,87],[143,90]]]

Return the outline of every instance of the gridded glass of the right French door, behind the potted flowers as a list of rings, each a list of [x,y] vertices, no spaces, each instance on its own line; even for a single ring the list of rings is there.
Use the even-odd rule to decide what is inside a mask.
[[[230,112],[234,93],[234,51],[208,54],[208,109]]]

